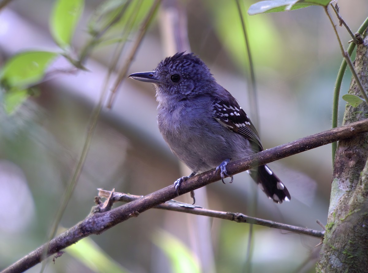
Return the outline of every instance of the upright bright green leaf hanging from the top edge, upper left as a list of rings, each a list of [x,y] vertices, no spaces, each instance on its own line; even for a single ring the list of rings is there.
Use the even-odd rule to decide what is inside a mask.
[[[50,18],[50,31],[62,48],[70,45],[75,26],[84,8],[84,0],[57,0]]]

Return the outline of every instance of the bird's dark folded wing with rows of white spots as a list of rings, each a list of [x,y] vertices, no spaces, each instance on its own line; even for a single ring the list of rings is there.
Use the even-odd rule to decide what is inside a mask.
[[[235,99],[217,100],[213,107],[215,120],[231,131],[243,135],[263,150],[261,140],[250,118]]]

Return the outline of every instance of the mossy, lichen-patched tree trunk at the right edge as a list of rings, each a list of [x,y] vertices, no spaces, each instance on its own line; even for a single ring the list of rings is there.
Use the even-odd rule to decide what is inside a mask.
[[[368,36],[355,58],[368,90]],[[360,95],[354,79],[349,94]],[[343,123],[368,118],[368,107],[347,104]],[[368,134],[339,141],[335,156],[328,223],[316,272],[368,272]]]

